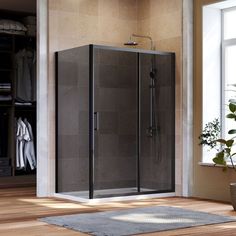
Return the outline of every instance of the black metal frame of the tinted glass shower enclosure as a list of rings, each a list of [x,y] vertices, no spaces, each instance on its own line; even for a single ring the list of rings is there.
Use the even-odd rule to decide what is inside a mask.
[[[87,45],[88,46],[88,45]],[[82,46],[83,47],[83,46]],[[125,52],[136,52],[137,53],[137,193],[136,194],[155,194],[155,193],[168,193],[175,191],[175,145],[173,147],[172,153],[172,187],[165,191],[143,191],[140,188],[140,117],[141,117],[141,73],[140,73],[140,54],[147,53],[153,55],[169,55],[171,56],[171,67],[172,77],[175,78],[175,53],[173,52],[162,52],[153,50],[143,50],[143,49],[130,49],[130,48],[117,48],[112,46],[102,46],[102,45],[89,45],[89,199],[94,198],[94,49],[104,49],[104,50],[115,50],[115,51],[125,51]],[[69,49],[71,50],[71,49]],[[66,51],[66,50],[65,50]],[[56,52],[56,192],[58,192],[58,53]],[[172,104],[175,107],[175,80],[172,80],[174,85],[172,86],[173,101]],[[173,107],[173,108],[174,108]],[[172,118],[172,122],[175,128],[175,116]],[[174,142],[175,143],[175,142]],[[133,195],[130,194],[130,195]],[[119,195],[127,196],[127,194]]]

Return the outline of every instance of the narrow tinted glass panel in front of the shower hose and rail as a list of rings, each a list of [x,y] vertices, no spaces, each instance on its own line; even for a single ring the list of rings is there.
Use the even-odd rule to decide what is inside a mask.
[[[139,54],[141,192],[168,192],[174,189],[173,65],[173,55]]]

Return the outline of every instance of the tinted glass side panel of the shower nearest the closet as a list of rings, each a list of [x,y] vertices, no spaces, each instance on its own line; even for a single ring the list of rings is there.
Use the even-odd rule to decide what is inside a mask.
[[[89,47],[58,53],[58,192],[89,190]],[[80,193],[81,194],[81,193]]]

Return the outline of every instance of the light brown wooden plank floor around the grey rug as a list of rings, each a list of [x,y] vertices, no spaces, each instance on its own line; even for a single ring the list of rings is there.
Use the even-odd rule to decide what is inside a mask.
[[[36,198],[33,188],[0,190],[0,235],[4,236],[74,236],[86,235],[62,227],[40,222],[38,218],[84,212],[109,211],[145,206],[173,206],[219,215],[236,216],[230,204],[189,198],[161,198],[141,201],[125,201],[103,205],[86,205],[55,198]],[[185,236],[228,236],[236,235],[236,222],[192,227],[159,233],[145,234]]]

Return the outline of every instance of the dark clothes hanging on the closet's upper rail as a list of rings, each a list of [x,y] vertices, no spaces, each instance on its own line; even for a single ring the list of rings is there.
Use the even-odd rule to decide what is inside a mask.
[[[23,49],[15,56],[16,99],[36,101],[36,53]]]

